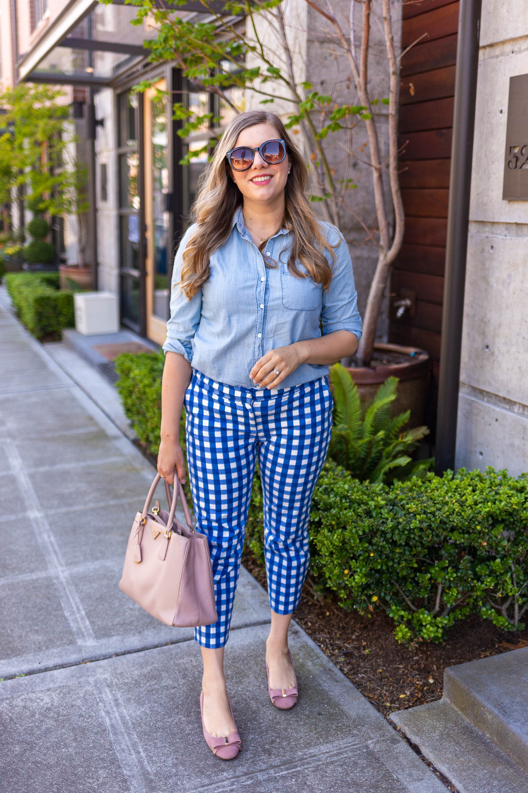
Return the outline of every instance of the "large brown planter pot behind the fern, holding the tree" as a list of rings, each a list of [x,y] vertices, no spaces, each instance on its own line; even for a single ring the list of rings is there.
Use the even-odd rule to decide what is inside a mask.
[[[403,358],[403,360],[401,360]],[[376,359],[380,362],[377,364]],[[391,360],[392,359],[392,360]],[[374,366],[347,367],[352,380],[358,386],[362,401],[370,402],[379,386],[387,377],[400,381],[398,394],[393,401],[393,415],[411,411],[407,425],[421,427],[425,423],[427,395],[429,393],[429,354],[416,347],[401,347],[400,344],[374,345]]]

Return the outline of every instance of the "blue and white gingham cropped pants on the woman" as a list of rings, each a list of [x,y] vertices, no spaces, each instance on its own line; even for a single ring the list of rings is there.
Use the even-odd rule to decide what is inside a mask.
[[[218,621],[195,629],[203,647],[229,637],[258,454],[270,606],[291,614],[310,559],[313,488],[332,431],[327,377],[289,389],[245,389],[193,371],[185,394],[187,461],[196,529],[207,535]]]

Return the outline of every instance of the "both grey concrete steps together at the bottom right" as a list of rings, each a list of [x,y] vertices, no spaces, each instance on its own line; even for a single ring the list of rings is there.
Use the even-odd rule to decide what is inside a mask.
[[[522,648],[447,668],[443,699],[390,718],[460,793],[526,793],[526,714]]]

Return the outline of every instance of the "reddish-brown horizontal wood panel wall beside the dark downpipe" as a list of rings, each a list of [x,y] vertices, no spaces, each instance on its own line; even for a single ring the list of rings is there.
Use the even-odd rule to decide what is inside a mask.
[[[391,304],[409,297],[414,305],[401,319],[391,305],[389,340],[427,350],[436,382],[457,29],[458,0],[423,0],[403,7],[402,50],[410,47],[401,59],[399,122],[405,238],[390,291],[396,294]]]

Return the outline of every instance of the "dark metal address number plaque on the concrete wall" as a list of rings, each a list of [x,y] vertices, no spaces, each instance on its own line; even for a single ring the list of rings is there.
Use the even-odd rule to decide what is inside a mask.
[[[503,199],[528,201],[528,75],[510,78]]]

